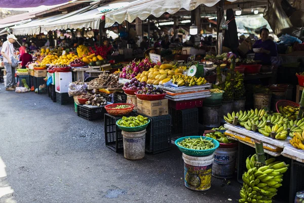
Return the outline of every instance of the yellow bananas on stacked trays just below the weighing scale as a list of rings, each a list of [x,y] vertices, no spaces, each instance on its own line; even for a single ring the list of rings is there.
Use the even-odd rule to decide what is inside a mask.
[[[185,75],[174,75],[172,76],[172,83],[178,86],[194,86],[194,85],[204,85],[207,83],[205,78],[197,78]]]

